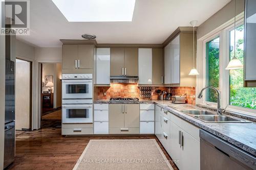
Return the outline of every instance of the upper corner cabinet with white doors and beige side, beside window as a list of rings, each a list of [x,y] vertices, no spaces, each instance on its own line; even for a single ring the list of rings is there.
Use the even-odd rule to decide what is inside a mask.
[[[191,68],[193,32],[180,32],[164,47],[164,84],[195,87],[196,76],[188,75]]]

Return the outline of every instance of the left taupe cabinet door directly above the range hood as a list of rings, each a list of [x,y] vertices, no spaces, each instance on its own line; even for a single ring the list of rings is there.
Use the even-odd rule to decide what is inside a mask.
[[[110,48],[110,75],[122,76],[123,74],[124,74],[124,48]]]

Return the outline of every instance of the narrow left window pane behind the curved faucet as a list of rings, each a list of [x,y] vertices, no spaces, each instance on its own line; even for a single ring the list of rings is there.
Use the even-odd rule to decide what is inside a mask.
[[[206,43],[206,86],[219,89],[220,78],[220,37]],[[217,93],[213,89],[207,89],[206,101],[217,102]]]

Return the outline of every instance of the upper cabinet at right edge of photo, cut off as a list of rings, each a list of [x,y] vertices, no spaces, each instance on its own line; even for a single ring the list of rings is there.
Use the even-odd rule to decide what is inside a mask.
[[[245,9],[245,87],[256,87],[256,1],[247,0]]]

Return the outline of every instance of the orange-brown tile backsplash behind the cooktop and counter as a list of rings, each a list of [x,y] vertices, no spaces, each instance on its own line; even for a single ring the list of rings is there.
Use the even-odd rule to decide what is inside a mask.
[[[158,99],[157,89],[167,91],[167,87],[152,87],[152,100]],[[173,95],[186,94],[186,103],[196,104],[195,87],[171,87]],[[140,98],[138,84],[111,83],[110,87],[94,87],[94,99]]]

